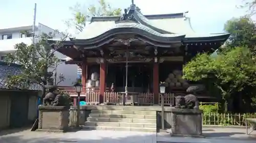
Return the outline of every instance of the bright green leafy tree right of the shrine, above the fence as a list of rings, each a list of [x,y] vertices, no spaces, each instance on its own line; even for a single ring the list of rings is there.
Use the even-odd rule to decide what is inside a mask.
[[[235,47],[215,58],[206,53],[200,54],[184,66],[183,78],[213,83],[222,93],[227,112],[234,92],[256,84],[256,66],[251,58],[251,52],[246,47]]]

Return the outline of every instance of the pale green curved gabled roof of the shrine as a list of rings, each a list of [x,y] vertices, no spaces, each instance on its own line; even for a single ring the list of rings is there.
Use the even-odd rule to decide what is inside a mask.
[[[185,42],[225,41],[229,37],[229,34],[196,33],[190,25],[190,18],[186,17],[184,13],[143,15],[136,5],[131,5],[127,11],[122,18],[120,16],[92,17],[91,22],[80,34],[75,35],[75,38],[91,41],[101,35],[106,36],[106,33],[112,34],[110,31],[118,31],[117,29],[120,31],[124,29],[136,31],[137,29],[140,33],[153,35],[153,39],[157,37],[156,40],[160,41],[165,41],[163,39],[166,37],[180,36],[184,36],[182,40]],[[125,16],[126,19],[124,19]],[[132,20],[125,22],[129,18]],[[116,22],[117,20],[123,20],[123,22]]]

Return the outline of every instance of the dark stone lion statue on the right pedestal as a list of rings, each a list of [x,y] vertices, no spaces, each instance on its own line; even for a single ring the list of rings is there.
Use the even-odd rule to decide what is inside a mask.
[[[196,92],[202,91],[203,88],[199,86],[190,86],[187,88],[186,92],[189,93],[185,97],[177,96],[175,99],[175,108],[186,108],[186,109],[199,109],[199,102]]]

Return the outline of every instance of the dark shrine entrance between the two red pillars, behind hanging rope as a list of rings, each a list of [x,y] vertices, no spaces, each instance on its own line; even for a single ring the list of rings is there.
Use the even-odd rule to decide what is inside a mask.
[[[109,63],[107,83],[115,85],[115,91],[125,91],[126,67],[125,63]],[[152,91],[153,67],[150,63],[129,63],[127,72],[127,87],[129,92]]]

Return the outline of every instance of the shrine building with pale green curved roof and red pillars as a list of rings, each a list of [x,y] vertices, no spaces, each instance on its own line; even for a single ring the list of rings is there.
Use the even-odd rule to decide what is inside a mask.
[[[198,53],[213,53],[230,35],[197,33],[186,13],[143,15],[132,4],[122,16],[91,17],[57,51],[70,57],[66,64],[80,66],[87,103],[115,103],[120,94],[138,93],[141,104],[159,104],[159,83],[165,82],[170,104],[170,94],[185,94],[196,84],[181,78],[183,65]],[[207,91],[197,96],[210,98]]]

